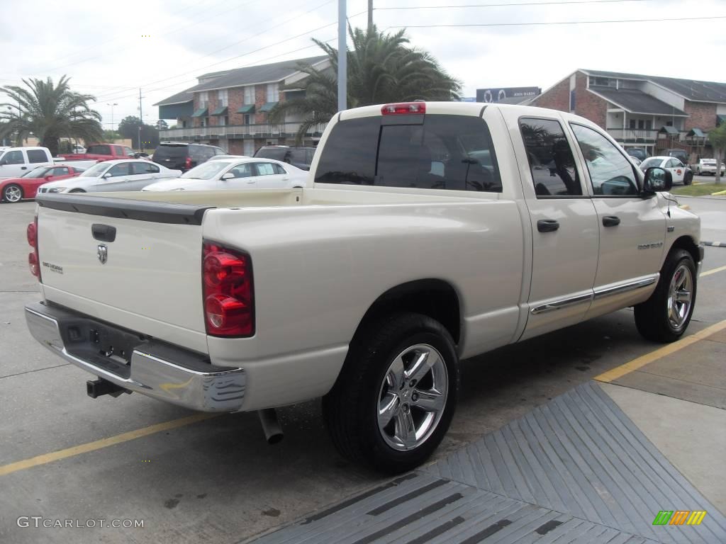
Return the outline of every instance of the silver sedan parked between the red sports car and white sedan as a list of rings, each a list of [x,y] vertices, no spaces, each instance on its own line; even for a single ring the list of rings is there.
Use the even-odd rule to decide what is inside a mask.
[[[71,163],[73,164],[73,163]],[[148,160],[126,159],[98,162],[77,178],[52,181],[38,188],[40,193],[85,193],[97,191],[141,191],[159,180],[181,176]]]

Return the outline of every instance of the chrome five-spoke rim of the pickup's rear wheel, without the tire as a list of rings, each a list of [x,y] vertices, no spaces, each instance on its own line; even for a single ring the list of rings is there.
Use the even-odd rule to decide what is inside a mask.
[[[428,440],[449,395],[446,363],[428,344],[407,347],[388,366],[378,393],[378,430],[394,450],[413,450]]]

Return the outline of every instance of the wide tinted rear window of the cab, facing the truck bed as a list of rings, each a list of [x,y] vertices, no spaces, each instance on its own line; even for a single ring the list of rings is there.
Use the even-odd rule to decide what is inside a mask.
[[[427,115],[423,124],[341,121],[322,149],[317,183],[502,191],[489,128],[481,118]]]

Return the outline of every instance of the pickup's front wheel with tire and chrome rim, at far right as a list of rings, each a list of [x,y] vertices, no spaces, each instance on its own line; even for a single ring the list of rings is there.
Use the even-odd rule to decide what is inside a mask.
[[[635,326],[655,342],[675,342],[688,328],[696,306],[696,263],[685,250],[672,250],[650,298],[635,306]]]

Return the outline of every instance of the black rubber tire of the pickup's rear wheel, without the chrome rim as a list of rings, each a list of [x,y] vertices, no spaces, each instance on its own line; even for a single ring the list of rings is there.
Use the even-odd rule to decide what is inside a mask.
[[[378,426],[380,392],[393,360],[407,348],[421,344],[441,355],[448,392],[438,424],[424,433],[428,437],[412,449],[396,450]],[[323,417],[341,455],[378,471],[400,474],[415,469],[439,446],[454,416],[458,392],[459,360],[449,331],[428,316],[398,313],[370,320],[356,333],[333,390],[323,397]],[[418,413],[414,397],[409,398],[413,408],[406,404],[401,409]],[[395,424],[393,420],[391,423]]]

